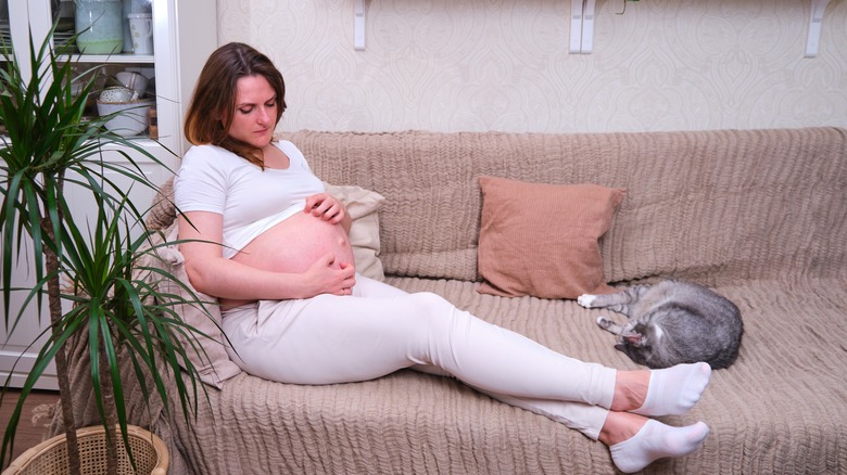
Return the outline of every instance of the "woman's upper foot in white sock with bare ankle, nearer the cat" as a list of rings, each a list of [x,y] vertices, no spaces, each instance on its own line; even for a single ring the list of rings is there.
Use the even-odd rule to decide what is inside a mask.
[[[641,415],[684,414],[700,399],[710,378],[711,367],[703,362],[663,370],[618,371],[610,409]]]

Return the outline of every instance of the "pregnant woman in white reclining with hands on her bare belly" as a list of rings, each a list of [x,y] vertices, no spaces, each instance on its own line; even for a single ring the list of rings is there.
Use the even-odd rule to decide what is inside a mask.
[[[706,363],[617,371],[557,354],[431,293],[355,272],[350,217],[303,154],[274,130],[286,108],[274,64],[243,43],[210,56],[188,110],[194,144],[175,181],[193,286],[219,298],[244,371],[292,384],[366,381],[403,368],[453,376],[581,431],[636,472],[705,440],[672,427],[710,378]]]

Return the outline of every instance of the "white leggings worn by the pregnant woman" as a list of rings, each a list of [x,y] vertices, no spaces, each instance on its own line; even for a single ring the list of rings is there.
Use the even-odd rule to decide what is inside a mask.
[[[224,312],[244,371],[293,384],[367,381],[403,368],[452,375],[596,439],[616,370],[557,354],[457,309],[356,275],[352,296],[261,300]]]

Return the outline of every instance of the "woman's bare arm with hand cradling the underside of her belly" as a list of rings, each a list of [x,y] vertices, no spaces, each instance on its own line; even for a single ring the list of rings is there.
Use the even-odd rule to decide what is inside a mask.
[[[332,208],[334,203],[324,206],[323,211]],[[327,200],[320,200],[318,205],[327,205]],[[330,220],[342,222],[345,217],[346,213],[336,210]],[[309,298],[318,294],[349,295],[355,283],[353,266],[330,267],[334,261],[331,253],[303,273],[271,272],[227,259],[223,257],[220,244],[216,244],[223,242],[219,214],[188,211],[178,219],[180,241],[189,240],[179,245],[186,258],[186,272],[191,285],[205,294],[245,300]]]

